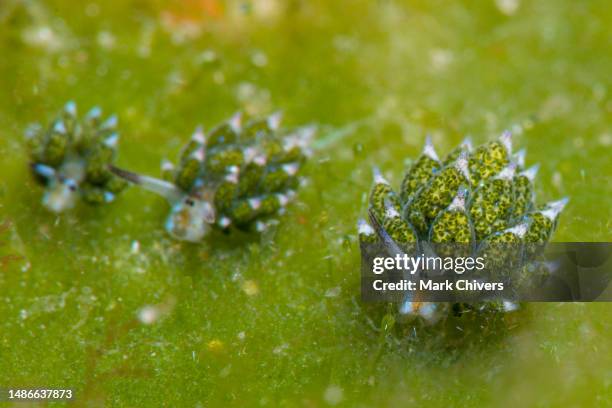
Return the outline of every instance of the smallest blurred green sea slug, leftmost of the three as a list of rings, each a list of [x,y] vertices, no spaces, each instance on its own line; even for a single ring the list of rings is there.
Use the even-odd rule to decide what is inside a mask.
[[[45,186],[43,204],[51,211],[72,208],[79,198],[109,203],[127,186],[108,169],[119,142],[117,117],[103,120],[98,107],[79,119],[76,104],[68,102],[47,128],[30,126],[26,140],[32,172]]]

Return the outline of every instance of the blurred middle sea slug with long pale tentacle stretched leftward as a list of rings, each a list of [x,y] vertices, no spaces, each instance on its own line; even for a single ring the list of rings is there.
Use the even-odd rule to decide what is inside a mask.
[[[196,129],[178,165],[162,163],[162,179],[112,171],[166,198],[176,239],[197,242],[213,227],[263,231],[294,198],[314,129],[282,131],[278,114],[242,122],[236,114],[207,134]]]

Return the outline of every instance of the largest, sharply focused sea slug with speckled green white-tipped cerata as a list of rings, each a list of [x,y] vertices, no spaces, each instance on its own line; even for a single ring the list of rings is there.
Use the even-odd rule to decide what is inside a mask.
[[[399,193],[376,172],[370,221],[359,221],[360,242],[381,241],[390,253],[410,251],[424,243],[437,244],[440,252],[457,250],[457,246],[444,244],[464,244],[461,248],[477,251],[490,251],[493,244],[546,244],[567,199],[537,206],[533,183],[538,166],[524,169],[524,164],[524,150],[512,154],[509,132],[475,149],[465,140],[443,159],[427,138]],[[535,269],[520,263],[515,266]],[[491,307],[514,310],[516,305],[504,302]],[[445,308],[448,305],[409,299],[400,312],[433,322]]]

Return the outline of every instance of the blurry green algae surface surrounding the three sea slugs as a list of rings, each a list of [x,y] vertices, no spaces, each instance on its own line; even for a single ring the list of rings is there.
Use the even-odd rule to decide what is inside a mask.
[[[611,405],[610,305],[381,331],[355,236],[374,166],[397,184],[426,133],[443,154],[511,128],[539,200],[571,199],[555,240],[609,241],[611,22],[606,1],[0,2],[0,255],[20,257],[0,267],[0,387],[92,406]],[[197,124],[280,109],[318,126],[309,183],[276,231],[199,245],[136,188],[49,214],[23,131],[70,99],[116,112],[119,165],[152,175]]]

